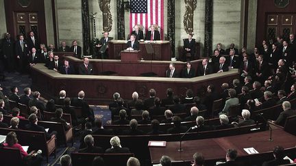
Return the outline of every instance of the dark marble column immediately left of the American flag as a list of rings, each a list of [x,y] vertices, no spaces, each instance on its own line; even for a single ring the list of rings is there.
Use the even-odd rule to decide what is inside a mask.
[[[125,19],[124,19],[124,3],[123,1],[116,1],[117,5],[117,38],[125,40]]]

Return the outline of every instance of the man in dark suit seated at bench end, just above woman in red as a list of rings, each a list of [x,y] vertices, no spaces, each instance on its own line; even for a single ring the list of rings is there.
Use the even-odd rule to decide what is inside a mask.
[[[47,140],[51,139],[51,137],[53,135],[56,135],[56,131],[53,131],[53,132],[51,132],[51,134],[49,134],[49,133],[47,133],[47,131],[45,130],[45,128],[43,126],[39,126],[37,124],[38,123],[38,118],[34,113],[29,115],[28,120],[29,120],[29,124],[25,125],[25,128],[27,130],[44,132]]]

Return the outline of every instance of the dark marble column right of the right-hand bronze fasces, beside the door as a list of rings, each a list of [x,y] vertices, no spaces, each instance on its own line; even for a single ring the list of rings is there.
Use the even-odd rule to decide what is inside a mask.
[[[206,1],[204,57],[212,55],[213,0]]]

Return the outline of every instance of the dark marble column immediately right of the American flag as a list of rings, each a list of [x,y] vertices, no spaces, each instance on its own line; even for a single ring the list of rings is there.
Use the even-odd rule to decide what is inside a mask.
[[[171,57],[175,57],[175,0],[168,0],[167,15],[167,33],[171,43]]]

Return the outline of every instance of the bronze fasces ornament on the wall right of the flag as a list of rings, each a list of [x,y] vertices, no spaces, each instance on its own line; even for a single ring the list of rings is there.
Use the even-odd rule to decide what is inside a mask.
[[[183,16],[183,25],[186,33],[193,33],[193,12],[197,8],[197,0],[184,0],[185,14]]]

